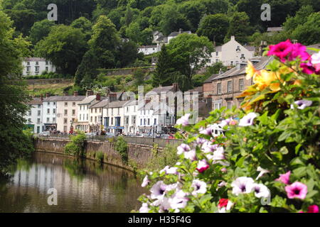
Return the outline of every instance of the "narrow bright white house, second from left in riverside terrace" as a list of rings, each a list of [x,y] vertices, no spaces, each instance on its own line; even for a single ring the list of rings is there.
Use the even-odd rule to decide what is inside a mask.
[[[56,96],[49,96],[43,99],[43,131],[54,131],[57,128],[57,102]]]

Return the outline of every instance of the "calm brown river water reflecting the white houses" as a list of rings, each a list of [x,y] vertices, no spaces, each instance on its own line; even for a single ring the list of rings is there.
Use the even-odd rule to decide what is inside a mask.
[[[132,172],[51,153],[18,160],[11,174],[0,179],[0,212],[129,212],[146,192]]]

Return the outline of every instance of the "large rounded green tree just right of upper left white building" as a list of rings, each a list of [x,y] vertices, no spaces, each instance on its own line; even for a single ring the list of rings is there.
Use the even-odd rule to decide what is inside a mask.
[[[80,28],[59,25],[36,45],[36,54],[53,62],[66,74],[75,74],[87,50],[85,34]]]

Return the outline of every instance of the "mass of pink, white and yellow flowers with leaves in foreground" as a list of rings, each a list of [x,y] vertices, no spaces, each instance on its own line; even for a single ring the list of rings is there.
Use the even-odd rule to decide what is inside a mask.
[[[319,211],[320,52],[287,40],[267,55],[266,70],[247,66],[255,84],[241,95],[243,110],[177,121],[180,159],[146,173],[151,194],[139,198],[140,212]],[[224,135],[213,136],[213,123]]]

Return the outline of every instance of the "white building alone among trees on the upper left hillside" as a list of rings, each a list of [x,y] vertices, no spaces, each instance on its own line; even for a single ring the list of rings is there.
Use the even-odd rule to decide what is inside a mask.
[[[55,72],[52,62],[41,57],[29,57],[23,60],[23,76],[38,75],[42,72]]]

